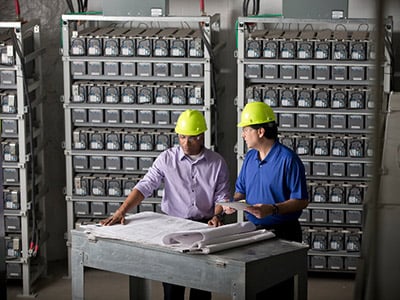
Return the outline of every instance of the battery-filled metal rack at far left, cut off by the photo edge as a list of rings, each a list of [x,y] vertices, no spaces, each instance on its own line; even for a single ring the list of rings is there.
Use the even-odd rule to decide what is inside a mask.
[[[6,276],[32,296],[32,284],[47,272],[39,21],[0,22],[0,52]]]

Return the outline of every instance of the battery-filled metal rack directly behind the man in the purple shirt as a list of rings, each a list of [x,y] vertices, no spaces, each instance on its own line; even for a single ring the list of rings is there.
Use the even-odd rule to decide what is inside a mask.
[[[178,144],[179,114],[197,109],[217,146],[214,72],[219,15],[62,16],[70,230],[112,214],[160,151]],[[163,190],[138,211],[160,211]],[[70,255],[70,251],[69,251]]]

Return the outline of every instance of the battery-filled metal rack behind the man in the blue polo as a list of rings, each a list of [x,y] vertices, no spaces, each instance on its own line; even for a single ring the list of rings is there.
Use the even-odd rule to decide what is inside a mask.
[[[385,22],[391,40],[391,20]],[[360,255],[372,176],[374,26],[352,19],[238,21],[238,117],[248,102],[270,105],[280,142],[304,164],[310,203],[300,222],[312,271],[355,272]],[[384,82],[385,99],[390,78]],[[240,130],[237,136],[240,170],[247,149]]]

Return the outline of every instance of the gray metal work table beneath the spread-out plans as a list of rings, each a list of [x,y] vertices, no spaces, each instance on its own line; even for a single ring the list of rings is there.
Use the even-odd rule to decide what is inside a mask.
[[[200,255],[162,246],[97,238],[72,230],[72,298],[84,299],[85,267],[130,276],[130,299],[151,299],[146,279],[256,299],[256,294],[295,278],[295,298],[307,299],[307,249],[279,239]]]

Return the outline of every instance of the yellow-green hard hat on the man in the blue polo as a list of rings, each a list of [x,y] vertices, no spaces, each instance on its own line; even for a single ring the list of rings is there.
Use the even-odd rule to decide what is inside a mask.
[[[274,122],[276,120],[272,108],[264,102],[250,102],[243,108],[238,127]]]

